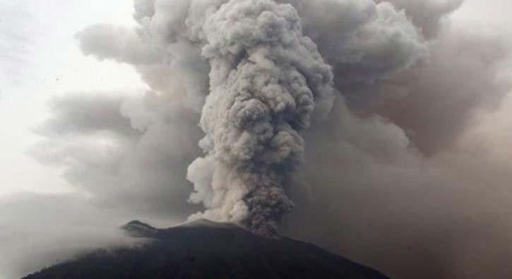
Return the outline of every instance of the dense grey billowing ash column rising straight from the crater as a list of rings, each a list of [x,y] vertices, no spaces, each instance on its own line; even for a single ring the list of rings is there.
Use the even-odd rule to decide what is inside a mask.
[[[302,35],[297,11],[270,0],[232,0],[203,25],[210,95],[201,117],[206,153],[189,166],[192,218],[239,222],[276,233],[290,212],[283,184],[303,160],[299,131],[333,100],[331,67]]]

